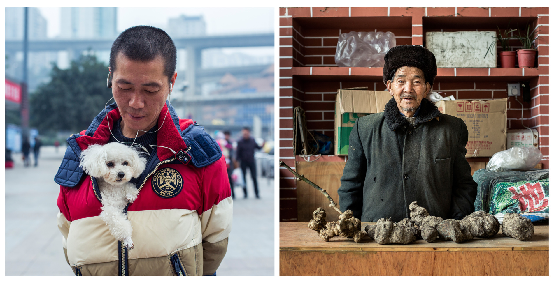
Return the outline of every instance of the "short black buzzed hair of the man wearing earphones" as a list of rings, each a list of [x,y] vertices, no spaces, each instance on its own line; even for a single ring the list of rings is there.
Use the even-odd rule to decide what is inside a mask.
[[[163,74],[171,77],[177,67],[175,43],[162,29],[148,25],[128,28],[117,36],[110,50],[110,69],[116,70],[115,59],[119,54],[135,61],[150,61],[160,55],[164,62]]]

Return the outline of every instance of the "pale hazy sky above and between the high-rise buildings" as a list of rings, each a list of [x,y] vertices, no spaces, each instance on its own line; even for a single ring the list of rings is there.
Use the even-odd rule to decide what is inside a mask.
[[[48,37],[60,34],[60,8],[39,8],[48,21]],[[273,33],[274,8],[117,8],[117,30],[134,25],[164,28],[169,18],[203,15],[208,35]],[[268,54],[269,48],[252,49]],[[264,51],[265,50],[265,51]],[[271,48],[273,50],[273,48]],[[273,52],[273,51],[271,51]]]

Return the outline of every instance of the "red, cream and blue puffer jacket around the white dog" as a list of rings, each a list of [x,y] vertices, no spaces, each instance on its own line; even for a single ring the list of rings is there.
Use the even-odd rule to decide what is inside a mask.
[[[115,103],[106,112],[110,126],[121,117]],[[153,150],[136,180],[139,196],[126,207],[135,244],[131,250],[99,218],[98,183],[79,167],[82,150],[109,140],[104,109],[86,131],[68,138],[55,182],[60,185],[58,228],[76,275],[215,274],[227,251],[233,215],[225,159],[203,127],[179,119],[170,104],[162,109],[158,125],[157,145],[186,151],[189,162],[179,161],[169,149]],[[163,176],[177,181],[164,186]]]

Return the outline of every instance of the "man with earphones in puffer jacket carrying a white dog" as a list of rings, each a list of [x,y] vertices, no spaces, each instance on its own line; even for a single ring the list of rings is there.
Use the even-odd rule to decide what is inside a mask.
[[[177,77],[175,44],[161,29],[125,30],[112,44],[107,86],[115,103],[68,138],[55,176],[58,227],[75,275],[216,275],[227,251],[233,201],[216,141],[168,102]],[[140,145],[146,169],[125,212],[135,248],[117,242],[99,219],[98,182],[79,167],[92,144]]]

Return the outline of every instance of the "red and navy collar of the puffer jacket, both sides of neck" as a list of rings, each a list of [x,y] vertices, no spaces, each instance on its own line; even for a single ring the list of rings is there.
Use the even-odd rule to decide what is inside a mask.
[[[102,109],[98,116],[94,118],[93,123],[90,124],[85,134],[78,135],[78,137],[75,138],[80,150],[84,150],[92,144],[106,144],[110,139],[110,129],[114,130],[114,122],[119,118],[121,118],[121,114],[119,113],[119,109],[117,109],[117,104],[110,104],[109,107],[106,107],[106,111]],[[163,106],[160,112],[160,117],[158,117],[158,125],[161,125],[161,127],[160,130],[158,130],[156,145],[166,146],[176,152],[179,149],[186,150],[187,145],[184,143],[181,129],[187,128],[189,125],[192,125],[192,123],[191,119],[179,121],[175,109],[166,101],[165,106]],[[175,154],[167,148],[157,147],[155,152],[160,161],[175,156]]]

